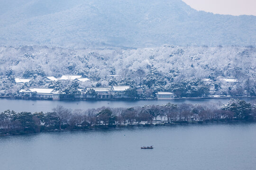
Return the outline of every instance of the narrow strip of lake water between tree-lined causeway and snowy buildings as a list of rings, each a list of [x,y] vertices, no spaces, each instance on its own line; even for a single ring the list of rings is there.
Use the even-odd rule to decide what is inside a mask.
[[[256,98],[242,98],[246,102],[255,103]],[[229,102],[228,98],[222,99],[174,99],[174,100],[151,100],[151,101],[47,101],[47,100],[16,100],[16,99],[0,99],[0,111],[15,110],[19,111],[52,111],[57,105],[62,105],[69,109],[82,109],[107,107],[133,107],[143,106],[145,104],[166,104],[168,102],[174,104],[191,103],[191,104],[224,104]]]

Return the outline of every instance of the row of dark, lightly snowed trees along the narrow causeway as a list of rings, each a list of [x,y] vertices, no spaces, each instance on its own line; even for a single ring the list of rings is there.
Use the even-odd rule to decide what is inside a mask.
[[[230,99],[222,106],[172,104],[145,105],[131,108],[71,110],[57,106],[52,112],[0,113],[0,134],[38,133],[48,130],[95,129],[126,125],[165,125],[210,121],[254,120],[256,104]]]

